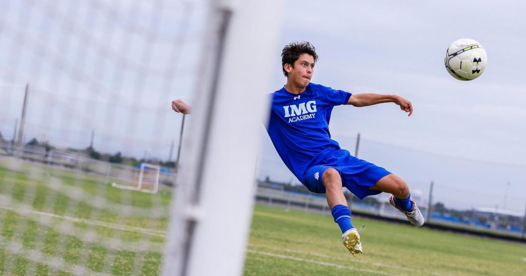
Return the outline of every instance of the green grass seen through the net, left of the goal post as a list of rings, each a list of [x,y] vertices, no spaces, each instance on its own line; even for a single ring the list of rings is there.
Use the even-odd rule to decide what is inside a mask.
[[[31,172],[35,169],[36,174]],[[38,169],[24,163],[17,170],[10,170],[0,161],[0,196],[11,198],[9,205],[0,202],[0,207],[11,208],[0,208],[0,275],[72,275],[69,270],[75,265],[84,267],[87,274],[159,274],[165,238],[133,227],[166,230],[167,217],[149,216],[148,209],[161,206],[167,210],[170,190],[150,195],[103,185],[102,179],[92,175]],[[57,180],[58,188],[53,185]],[[92,199],[107,204],[101,207]],[[123,208],[129,207],[143,212],[123,214]],[[47,223],[41,223],[43,217]],[[91,238],[86,238],[88,231]],[[118,243],[117,248],[108,245],[112,242]],[[144,248],[144,242],[150,247],[129,250]],[[21,249],[10,250],[13,245]],[[29,252],[38,252],[41,260],[34,261]],[[62,259],[65,265],[59,269],[49,266],[49,258]]]

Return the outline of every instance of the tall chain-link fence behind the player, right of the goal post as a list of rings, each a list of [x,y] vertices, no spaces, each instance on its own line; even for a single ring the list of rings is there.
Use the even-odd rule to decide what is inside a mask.
[[[342,147],[356,148],[356,137],[333,138]],[[258,190],[260,200],[327,211],[325,196],[303,188],[266,143],[264,139],[259,158],[259,183],[265,187]],[[363,138],[358,155],[406,180],[428,221],[524,237],[526,166],[433,154]],[[404,218],[388,198],[385,193],[364,200],[353,197],[351,206],[360,212]]]

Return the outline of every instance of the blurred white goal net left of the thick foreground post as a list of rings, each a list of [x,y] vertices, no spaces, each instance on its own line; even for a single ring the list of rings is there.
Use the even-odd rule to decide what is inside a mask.
[[[204,13],[191,0],[2,2],[0,274],[160,273],[181,124],[170,101],[196,82]]]

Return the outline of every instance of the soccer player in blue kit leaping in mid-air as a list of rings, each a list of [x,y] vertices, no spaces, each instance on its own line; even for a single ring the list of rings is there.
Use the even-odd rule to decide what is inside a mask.
[[[352,226],[351,211],[342,187],[363,199],[381,192],[391,193],[389,202],[415,226],[424,223],[411,200],[407,183],[384,168],[358,159],[332,140],[329,120],[337,105],[355,107],[395,103],[411,116],[411,102],[397,95],[351,94],[310,83],[318,60],[309,42],[292,42],[281,52],[287,83],[270,94],[271,110],[267,132],[281,160],[311,192],[325,193],[334,221],[341,229],[342,242],[352,255],[362,252],[360,234]],[[187,114],[190,107],[172,101],[172,109]]]

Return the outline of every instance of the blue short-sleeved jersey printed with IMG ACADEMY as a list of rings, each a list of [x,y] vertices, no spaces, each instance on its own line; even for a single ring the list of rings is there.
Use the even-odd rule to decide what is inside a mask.
[[[331,151],[340,149],[332,140],[329,121],[332,108],[346,104],[351,93],[310,83],[301,94],[285,87],[271,96],[267,132],[279,157],[301,181],[307,170]]]

